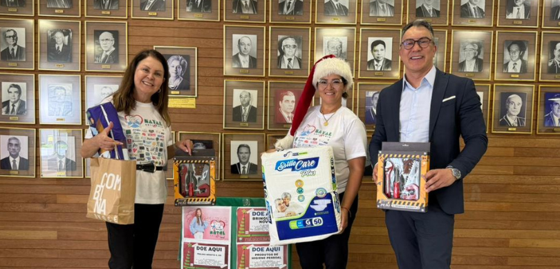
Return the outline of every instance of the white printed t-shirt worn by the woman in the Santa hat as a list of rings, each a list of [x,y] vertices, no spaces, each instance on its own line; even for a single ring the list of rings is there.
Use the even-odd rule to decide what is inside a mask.
[[[335,157],[335,172],[339,193],[348,183],[348,160],[366,157],[366,127],[352,110],[342,106],[336,112],[321,114],[320,106],[309,108],[294,135],[294,148],[331,146]],[[328,125],[324,126],[325,118]],[[289,133],[289,132],[288,132]]]

